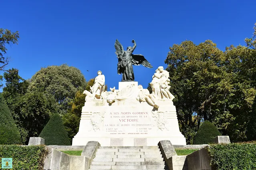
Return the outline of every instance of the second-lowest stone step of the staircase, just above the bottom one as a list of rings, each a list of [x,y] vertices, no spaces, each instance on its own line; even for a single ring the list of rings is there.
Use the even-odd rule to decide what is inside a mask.
[[[165,162],[91,162],[91,165],[164,165]]]

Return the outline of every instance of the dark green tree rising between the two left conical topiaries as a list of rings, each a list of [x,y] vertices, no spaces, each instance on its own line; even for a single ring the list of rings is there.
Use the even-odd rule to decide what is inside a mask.
[[[58,112],[58,104],[46,92],[27,91],[30,83],[18,75],[17,69],[8,70],[4,78],[3,96],[20,131],[22,143],[26,144],[29,137],[38,136],[50,115]]]

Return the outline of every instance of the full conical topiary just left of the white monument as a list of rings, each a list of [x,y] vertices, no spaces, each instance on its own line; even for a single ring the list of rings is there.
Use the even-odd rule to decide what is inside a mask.
[[[45,145],[71,145],[68,134],[58,114],[50,118],[39,137],[44,138]]]

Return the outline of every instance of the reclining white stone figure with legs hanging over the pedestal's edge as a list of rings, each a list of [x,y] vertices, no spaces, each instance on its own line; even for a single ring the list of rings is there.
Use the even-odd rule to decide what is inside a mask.
[[[147,101],[149,105],[155,108],[159,108],[159,105],[157,104],[157,99],[155,99],[153,94],[149,94],[148,89],[143,89],[142,85],[138,85],[138,89],[139,89],[139,95],[137,97],[137,100],[139,102]]]

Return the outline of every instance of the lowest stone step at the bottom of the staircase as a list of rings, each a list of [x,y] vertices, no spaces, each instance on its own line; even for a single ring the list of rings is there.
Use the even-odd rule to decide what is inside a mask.
[[[152,170],[152,169],[167,169],[165,165],[91,165],[90,169],[104,169],[104,170]]]

